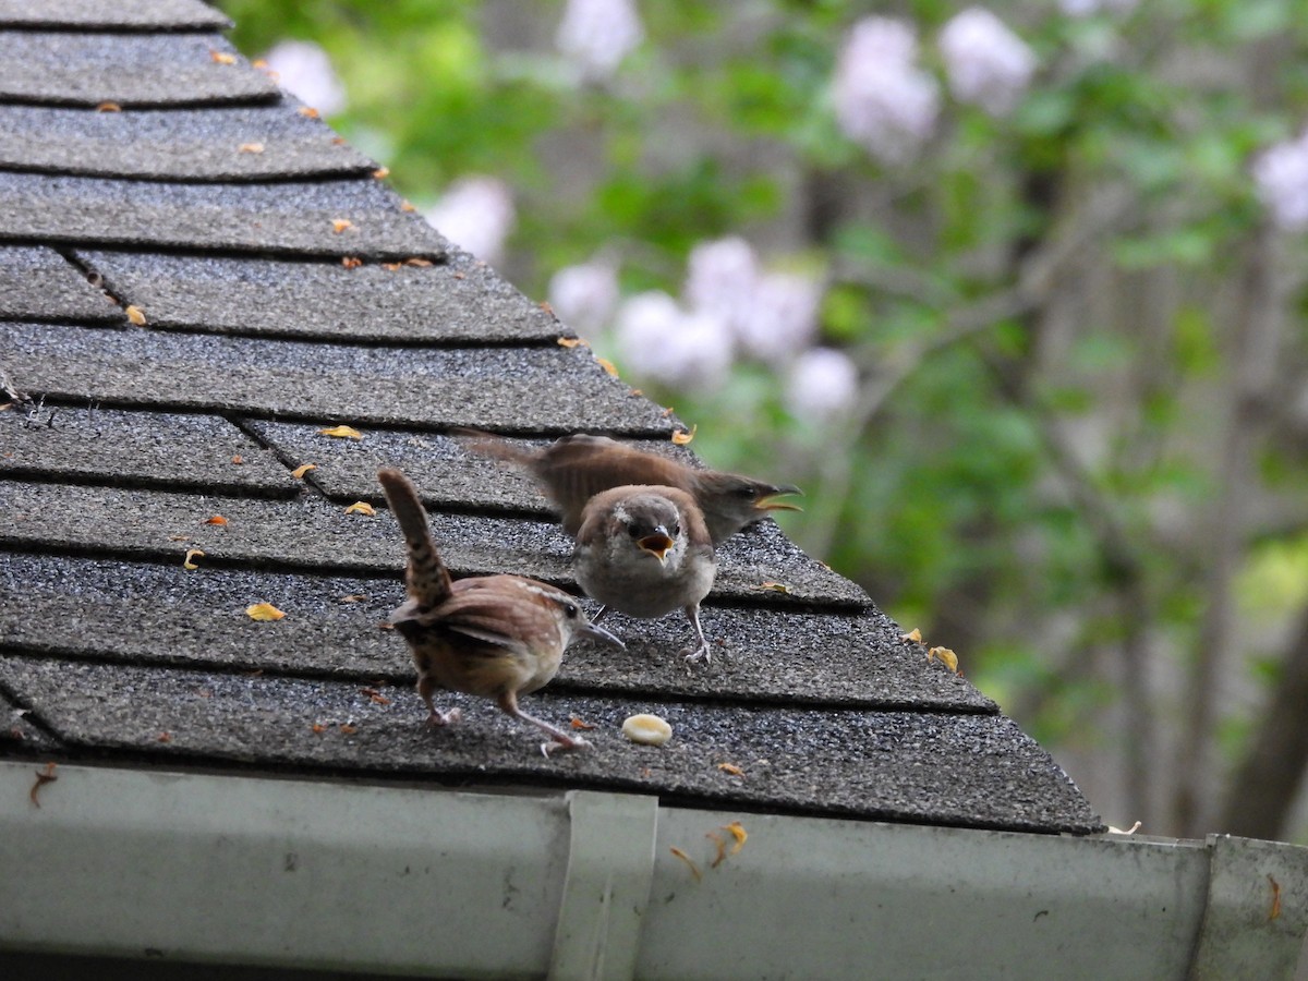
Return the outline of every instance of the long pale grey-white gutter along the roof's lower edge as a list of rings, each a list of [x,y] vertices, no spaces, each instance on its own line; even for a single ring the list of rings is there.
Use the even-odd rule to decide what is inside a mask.
[[[1290,978],[1308,849],[0,763],[0,950],[451,977]],[[736,844],[722,825],[739,820]],[[718,854],[715,835],[725,857]],[[697,879],[680,849],[695,862]],[[13,957],[13,954],[0,955]]]

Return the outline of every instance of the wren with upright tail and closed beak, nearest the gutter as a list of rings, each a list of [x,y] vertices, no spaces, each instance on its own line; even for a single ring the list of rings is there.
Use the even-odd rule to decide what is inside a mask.
[[[439,712],[437,688],[494,698],[508,714],[551,735],[551,749],[579,749],[586,740],[569,735],[518,708],[518,696],[543,688],[559,671],[564,649],[577,637],[625,646],[586,619],[576,596],[521,576],[479,576],[451,581],[432,539],[426,511],[412,481],[383,468],[377,479],[404,534],[408,600],[390,623],[408,641],[417,666],[417,693],[430,710],[428,722],[443,726],[459,710]]]

